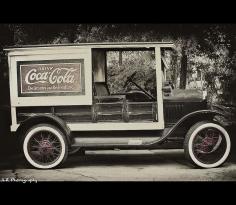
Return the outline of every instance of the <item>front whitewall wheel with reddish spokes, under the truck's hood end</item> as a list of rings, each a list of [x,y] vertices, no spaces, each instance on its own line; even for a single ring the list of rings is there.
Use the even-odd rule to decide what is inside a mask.
[[[199,122],[188,131],[184,151],[193,164],[202,168],[218,167],[225,162],[230,152],[230,138],[220,125]]]

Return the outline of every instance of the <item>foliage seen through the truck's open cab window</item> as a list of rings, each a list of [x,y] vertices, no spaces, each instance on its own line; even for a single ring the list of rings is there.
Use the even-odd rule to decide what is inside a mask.
[[[119,65],[118,54],[118,52],[109,52],[107,57],[108,86],[111,93],[122,92],[127,77],[137,71],[134,81],[155,95],[154,51],[124,51],[122,65]],[[131,87],[137,89],[136,86],[130,85],[127,90]]]

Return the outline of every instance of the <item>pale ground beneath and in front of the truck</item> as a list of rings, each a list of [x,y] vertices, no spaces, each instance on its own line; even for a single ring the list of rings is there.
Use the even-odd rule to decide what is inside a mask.
[[[0,181],[235,181],[236,160],[221,167],[197,169],[183,150],[86,151],[73,155],[60,169],[37,170],[21,156],[0,161]]]

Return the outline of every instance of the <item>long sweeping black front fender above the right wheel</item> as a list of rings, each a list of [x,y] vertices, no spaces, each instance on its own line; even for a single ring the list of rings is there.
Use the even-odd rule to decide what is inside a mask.
[[[193,124],[205,120],[215,121],[223,127],[230,125],[228,116],[223,112],[217,110],[198,110],[182,117],[162,138],[170,137],[178,128],[181,128],[184,125],[190,128]]]

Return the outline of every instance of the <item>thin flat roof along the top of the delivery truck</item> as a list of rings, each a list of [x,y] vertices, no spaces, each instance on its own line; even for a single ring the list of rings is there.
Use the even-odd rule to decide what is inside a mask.
[[[15,51],[34,48],[49,48],[49,47],[91,47],[91,48],[122,48],[122,47],[160,47],[172,48],[172,42],[98,42],[98,43],[67,43],[67,44],[37,44],[37,45],[16,45],[8,46],[5,51]]]

